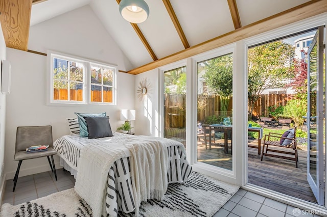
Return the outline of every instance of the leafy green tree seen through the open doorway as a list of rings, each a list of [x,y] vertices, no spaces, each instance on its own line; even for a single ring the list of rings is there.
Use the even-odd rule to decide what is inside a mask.
[[[248,117],[252,118],[254,103],[267,87],[283,88],[285,80],[294,76],[294,47],[283,41],[248,50]]]

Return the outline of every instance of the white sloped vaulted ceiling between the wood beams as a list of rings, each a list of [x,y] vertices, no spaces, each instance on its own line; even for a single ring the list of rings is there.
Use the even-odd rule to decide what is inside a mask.
[[[156,57],[161,59],[185,49],[164,3],[145,1],[150,15],[138,27]],[[236,0],[242,26],[306,2],[309,0]],[[190,46],[235,30],[227,0],[171,0],[170,3]],[[134,68],[153,61],[131,24],[120,15],[116,0],[48,0],[34,4],[31,25],[85,5],[99,17]]]

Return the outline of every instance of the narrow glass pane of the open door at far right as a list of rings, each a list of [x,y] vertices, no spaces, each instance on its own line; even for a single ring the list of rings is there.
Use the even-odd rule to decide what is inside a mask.
[[[310,127],[310,174],[317,182],[317,43],[310,52],[310,121],[307,126]]]

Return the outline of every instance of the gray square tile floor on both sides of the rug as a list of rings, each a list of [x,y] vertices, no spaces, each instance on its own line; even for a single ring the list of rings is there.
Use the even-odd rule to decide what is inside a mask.
[[[54,174],[51,171],[20,177],[18,179],[15,192],[12,192],[14,182],[12,179],[7,180],[7,184],[5,186],[5,195],[2,203],[10,203],[16,205],[74,187],[75,179],[68,171],[58,169],[57,178],[58,181],[56,181]],[[295,207],[245,191],[244,189],[240,189],[214,215],[214,217],[291,217],[294,216],[292,214],[294,208]],[[299,214],[296,216],[316,217],[319,215]]]

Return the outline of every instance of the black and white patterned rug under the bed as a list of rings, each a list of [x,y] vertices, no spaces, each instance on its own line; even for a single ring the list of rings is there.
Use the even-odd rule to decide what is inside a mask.
[[[162,201],[143,202],[139,216],[212,216],[238,189],[237,185],[192,172],[186,184],[169,184]],[[91,217],[91,213],[87,203],[71,188],[19,205],[5,203],[1,207],[0,216]],[[119,216],[134,216],[134,213],[119,212]]]

